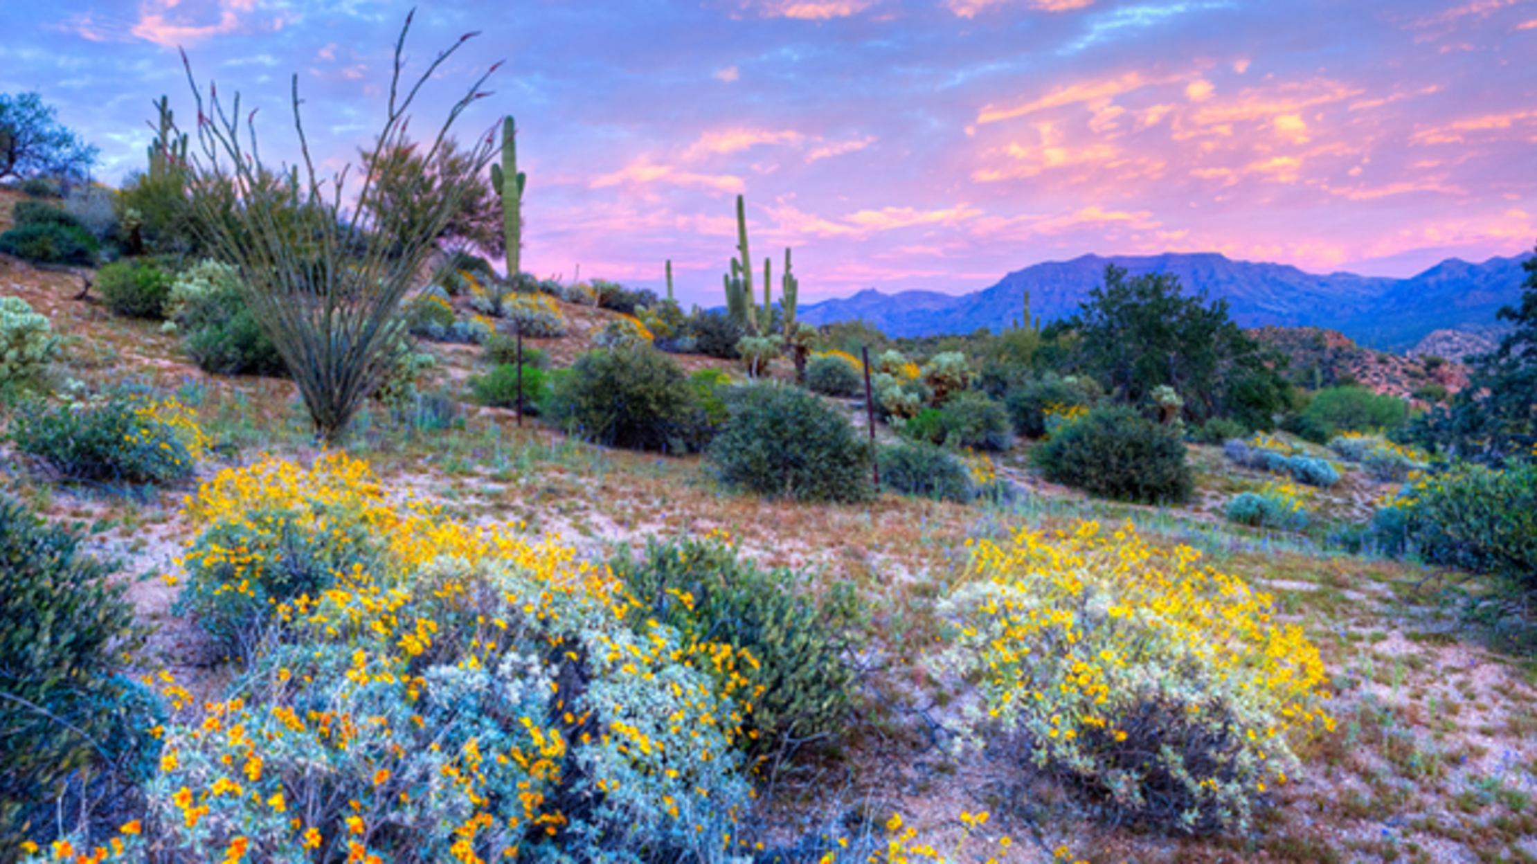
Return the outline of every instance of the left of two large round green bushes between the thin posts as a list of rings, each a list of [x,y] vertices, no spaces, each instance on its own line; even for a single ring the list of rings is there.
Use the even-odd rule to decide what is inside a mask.
[[[682,454],[698,435],[693,387],[650,346],[583,354],[553,381],[547,404],[567,434],[609,447]]]

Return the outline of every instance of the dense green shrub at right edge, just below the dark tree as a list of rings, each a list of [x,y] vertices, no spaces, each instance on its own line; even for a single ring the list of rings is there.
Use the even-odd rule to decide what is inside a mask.
[[[1374,517],[1389,552],[1488,573],[1503,595],[1537,598],[1537,464],[1459,464],[1405,484]]]

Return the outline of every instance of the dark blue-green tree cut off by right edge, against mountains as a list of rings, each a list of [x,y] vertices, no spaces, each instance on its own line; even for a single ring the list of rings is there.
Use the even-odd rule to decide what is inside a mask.
[[[1492,352],[1469,358],[1471,383],[1452,404],[1417,417],[1403,440],[1491,466],[1537,461],[1537,257],[1523,268],[1520,303],[1497,314],[1511,331]]]

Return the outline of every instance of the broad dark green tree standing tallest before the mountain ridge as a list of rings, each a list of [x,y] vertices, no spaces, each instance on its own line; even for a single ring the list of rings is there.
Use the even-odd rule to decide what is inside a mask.
[[[1234,417],[1270,429],[1288,404],[1288,384],[1266,354],[1228,317],[1228,303],[1207,306],[1205,292],[1182,294],[1179,277],[1105,268],[1105,283],[1088,294],[1068,326],[1077,331],[1085,371],[1122,401],[1137,403],[1167,384],[1185,400],[1194,421]]]

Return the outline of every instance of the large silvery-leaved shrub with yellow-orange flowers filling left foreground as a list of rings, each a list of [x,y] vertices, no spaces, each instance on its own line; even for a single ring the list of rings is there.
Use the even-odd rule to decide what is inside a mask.
[[[274,501],[290,529],[366,527],[377,553],[272,604],[246,672],[200,715],[158,681],[183,713],[129,853],[712,861],[736,844],[733,741],[759,693],[744,653],[635,626],[624,586],[556,538],[390,506],[344,455],[224,472],[188,510],[217,526]]]

